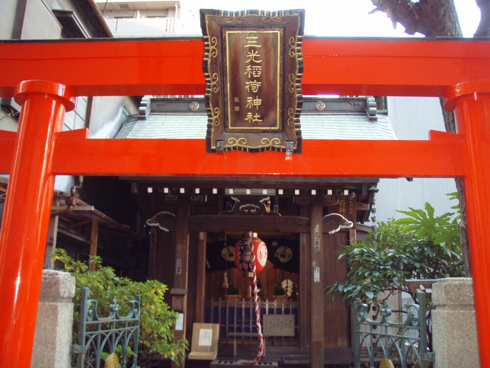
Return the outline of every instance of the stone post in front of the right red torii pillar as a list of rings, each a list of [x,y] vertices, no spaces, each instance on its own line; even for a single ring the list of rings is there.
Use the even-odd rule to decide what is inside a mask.
[[[438,280],[432,285],[432,301],[435,368],[480,367],[472,279]]]

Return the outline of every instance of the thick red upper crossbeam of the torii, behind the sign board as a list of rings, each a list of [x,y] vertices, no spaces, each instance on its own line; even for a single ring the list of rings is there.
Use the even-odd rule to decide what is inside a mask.
[[[0,48],[0,96],[29,79],[72,86],[77,96],[204,94],[197,38],[3,41]],[[303,95],[443,96],[457,83],[490,79],[486,40],[306,37],[302,50]]]

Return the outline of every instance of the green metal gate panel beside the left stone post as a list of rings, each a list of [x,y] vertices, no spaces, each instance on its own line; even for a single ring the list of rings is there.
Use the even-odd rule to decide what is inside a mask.
[[[138,335],[140,328],[140,296],[129,301],[127,315],[120,316],[120,305],[114,298],[109,306],[109,315],[99,317],[97,313],[97,300],[89,299],[90,290],[81,289],[80,323],[78,328],[78,344],[72,345],[72,352],[77,354],[76,367],[99,368],[104,363],[104,353],[118,351],[121,357],[121,368],[136,367],[138,354]],[[120,349],[117,349],[121,346]],[[134,354],[127,356],[129,349]],[[129,361],[129,363],[128,363]]]

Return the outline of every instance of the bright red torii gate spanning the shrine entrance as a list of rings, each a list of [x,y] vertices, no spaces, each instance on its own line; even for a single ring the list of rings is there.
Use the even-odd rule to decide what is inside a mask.
[[[429,141],[303,140],[303,154],[286,160],[276,152],[206,154],[204,139],[184,144],[60,132],[73,96],[202,94],[200,40],[0,43],[0,96],[23,105],[18,132],[0,134],[0,171],[10,172],[0,234],[0,365],[30,366],[54,175],[73,174],[463,177],[480,360],[490,367],[489,46],[488,40],[305,39],[304,95],[444,96],[459,133],[431,132]]]

